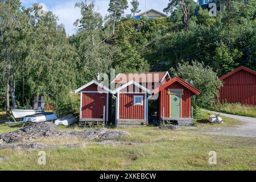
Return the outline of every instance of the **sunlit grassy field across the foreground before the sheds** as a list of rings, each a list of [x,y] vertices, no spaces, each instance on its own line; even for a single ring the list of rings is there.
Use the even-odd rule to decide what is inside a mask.
[[[201,115],[204,121],[203,115],[207,113]],[[235,123],[239,124],[230,119],[226,126]],[[201,122],[198,126],[214,127]],[[0,130],[3,128],[7,126],[1,125]],[[256,170],[254,138],[196,135],[191,130],[160,130],[158,127],[112,130],[128,131],[129,135],[115,139],[122,143],[117,146],[81,138],[36,140],[56,145],[86,145],[44,150],[46,165],[38,164],[38,150],[0,150],[0,158],[5,158],[0,162],[0,170]],[[217,152],[217,165],[209,165],[209,151]]]

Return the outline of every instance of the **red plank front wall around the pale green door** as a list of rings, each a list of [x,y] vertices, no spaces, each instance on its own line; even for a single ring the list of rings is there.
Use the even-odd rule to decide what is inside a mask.
[[[164,107],[164,117],[170,117],[170,95],[168,95],[168,89],[184,89],[183,95],[181,96],[182,102],[182,118],[190,118],[191,117],[191,91],[185,86],[179,84],[179,82],[174,82],[167,88],[163,89],[159,93],[158,98],[158,115],[159,119],[163,118],[163,107]]]

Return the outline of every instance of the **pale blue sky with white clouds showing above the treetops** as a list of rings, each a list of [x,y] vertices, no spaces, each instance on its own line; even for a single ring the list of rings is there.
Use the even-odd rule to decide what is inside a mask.
[[[46,6],[46,10],[53,11],[53,14],[59,17],[59,23],[63,23],[68,35],[75,33],[75,27],[73,23],[76,19],[80,18],[79,9],[75,9],[75,3],[81,0],[20,0],[22,5],[30,7],[34,3],[43,3]],[[126,10],[126,14],[130,14],[130,1],[129,8]],[[88,0],[89,2],[89,0]],[[145,10],[145,0],[139,0],[139,9]],[[155,9],[163,11],[164,7],[167,7],[169,0],[146,0],[146,9]],[[95,0],[96,9],[102,14],[108,14],[109,0]]]

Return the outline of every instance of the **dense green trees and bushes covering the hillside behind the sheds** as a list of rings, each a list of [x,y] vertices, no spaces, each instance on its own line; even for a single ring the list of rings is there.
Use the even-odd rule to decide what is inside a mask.
[[[0,1],[1,108],[9,85],[11,105],[29,105],[33,95],[43,93],[63,110],[73,104],[71,91],[98,73],[109,75],[110,68],[116,73],[173,68],[172,76],[193,81],[202,91],[196,104],[206,107],[217,94],[217,77],[239,65],[256,70],[256,2],[232,1],[230,13],[224,8],[210,17],[192,0],[170,0],[164,10],[168,18],[149,20],[125,18],[126,0],[111,0],[105,18],[94,10],[94,2],[76,6],[81,19],[74,22],[76,34],[67,38],[51,12],[41,16],[37,5],[26,9],[19,0]]]

